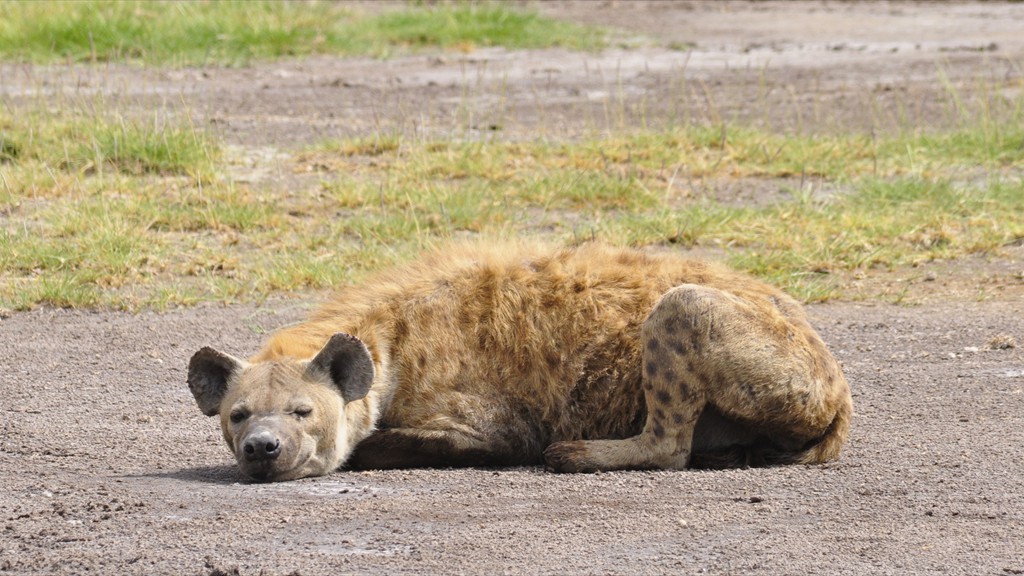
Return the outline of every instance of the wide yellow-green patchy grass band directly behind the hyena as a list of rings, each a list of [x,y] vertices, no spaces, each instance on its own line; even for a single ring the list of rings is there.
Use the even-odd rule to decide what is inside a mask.
[[[815,301],[843,296],[860,271],[1024,238],[1015,122],[877,138],[740,127],[571,143],[381,135],[298,154],[284,169],[321,172],[286,191],[232,181],[227,153],[187,118],[71,105],[34,118],[0,118],[0,307],[259,300],[447,239],[520,235],[720,250]],[[729,181],[775,187],[775,199],[717,202],[715,183]]]

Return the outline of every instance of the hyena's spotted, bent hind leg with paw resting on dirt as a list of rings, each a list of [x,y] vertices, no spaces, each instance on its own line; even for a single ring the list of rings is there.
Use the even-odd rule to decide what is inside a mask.
[[[850,412],[846,380],[799,307],[781,303],[697,285],[667,292],[641,327],[643,430],[554,444],[547,464],[556,471],[685,468],[706,407],[781,446],[830,436],[838,453]]]

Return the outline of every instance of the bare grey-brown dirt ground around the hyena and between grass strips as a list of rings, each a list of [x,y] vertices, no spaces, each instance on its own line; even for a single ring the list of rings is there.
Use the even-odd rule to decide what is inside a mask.
[[[629,47],[243,70],[3,65],[0,97],[186,110],[237,147],[240,172],[304,186],[276,163],[326,136],[571,138],[721,119],[941,127],[952,121],[941,76],[1014,95],[1024,74],[1020,3],[540,8],[614,27]],[[774,190],[710,186],[735,202]],[[341,471],[251,484],[196,408],[185,365],[206,344],[255,351],[312,298],[8,315],[0,573],[1024,574],[1022,278],[1024,249],[1007,247],[882,281],[915,305],[810,306],[854,390],[848,448],[828,465],[730,471]]]

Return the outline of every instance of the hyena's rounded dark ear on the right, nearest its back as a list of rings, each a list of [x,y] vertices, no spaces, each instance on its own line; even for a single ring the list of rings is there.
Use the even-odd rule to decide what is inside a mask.
[[[306,374],[315,379],[330,378],[345,402],[358,400],[374,383],[374,361],[362,340],[345,333],[331,336],[309,362]]]

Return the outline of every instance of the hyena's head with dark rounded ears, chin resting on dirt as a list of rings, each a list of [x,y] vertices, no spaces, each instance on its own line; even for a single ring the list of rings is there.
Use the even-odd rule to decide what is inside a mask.
[[[374,364],[356,337],[335,334],[312,360],[248,363],[205,347],[188,363],[188,388],[220,416],[242,471],[276,482],[333,471],[351,449],[345,404],[367,395]]]

